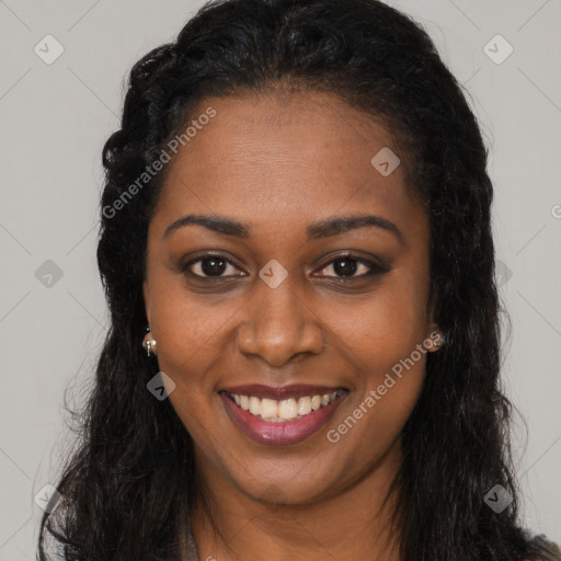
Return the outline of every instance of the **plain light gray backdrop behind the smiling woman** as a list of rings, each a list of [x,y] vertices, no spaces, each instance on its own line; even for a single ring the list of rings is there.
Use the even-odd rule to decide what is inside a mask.
[[[107,325],[95,265],[101,149],[118,128],[126,73],[202,3],[0,0],[0,561],[35,559],[34,496],[72,442],[64,391],[83,399]],[[388,3],[434,38],[490,147],[512,318],[503,377],[528,428],[517,421],[525,519],[561,543],[561,0]],[[56,54],[48,34],[64,48],[50,65],[34,51]],[[497,34],[514,48],[501,64]]]

